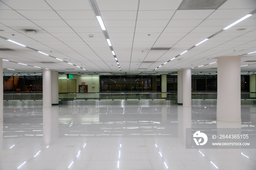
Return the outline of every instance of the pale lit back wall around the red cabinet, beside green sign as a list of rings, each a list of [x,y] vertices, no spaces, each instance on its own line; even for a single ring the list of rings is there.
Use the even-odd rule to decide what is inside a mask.
[[[67,79],[67,76],[59,76],[59,79]],[[99,92],[99,76],[84,76],[84,75],[73,75],[73,80],[76,80],[76,92],[78,92],[78,85],[82,85],[82,82],[85,82],[85,85],[88,85],[88,92]],[[93,88],[92,82],[95,82],[95,87]]]

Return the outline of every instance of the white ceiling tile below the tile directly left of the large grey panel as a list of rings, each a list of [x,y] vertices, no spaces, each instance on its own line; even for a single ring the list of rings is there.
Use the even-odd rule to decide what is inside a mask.
[[[138,20],[170,20],[174,10],[164,11],[138,11]]]

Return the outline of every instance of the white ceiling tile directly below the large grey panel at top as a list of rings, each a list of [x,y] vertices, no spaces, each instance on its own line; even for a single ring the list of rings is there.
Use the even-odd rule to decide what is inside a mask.
[[[172,19],[206,19],[214,10],[177,10]]]

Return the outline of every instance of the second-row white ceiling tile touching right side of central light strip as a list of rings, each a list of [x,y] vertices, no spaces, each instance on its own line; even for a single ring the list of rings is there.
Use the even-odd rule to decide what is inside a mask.
[[[136,20],[137,11],[101,11],[103,20]]]

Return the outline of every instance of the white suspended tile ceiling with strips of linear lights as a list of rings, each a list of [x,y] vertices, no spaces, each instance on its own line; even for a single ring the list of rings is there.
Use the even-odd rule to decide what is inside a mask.
[[[9,60],[4,72],[217,71],[221,56],[241,56],[241,71],[256,71],[255,9],[255,0],[0,0],[0,57]]]

